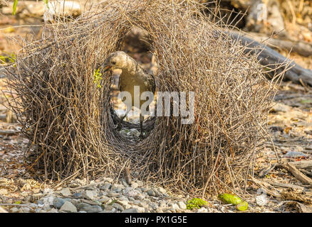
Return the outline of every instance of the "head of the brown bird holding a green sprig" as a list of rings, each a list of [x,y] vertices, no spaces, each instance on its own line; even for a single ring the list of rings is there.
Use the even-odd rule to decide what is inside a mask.
[[[112,52],[104,62],[104,72],[128,67],[128,55],[123,51]]]

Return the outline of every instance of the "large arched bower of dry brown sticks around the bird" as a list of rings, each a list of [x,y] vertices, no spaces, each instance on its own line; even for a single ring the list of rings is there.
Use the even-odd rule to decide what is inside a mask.
[[[244,194],[283,72],[266,79],[267,67],[224,32],[232,28],[212,23],[207,10],[191,1],[114,1],[46,25],[41,40],[25,41],[6,73],[11,109],[30,141],[28,170],[65,182],[118,178],[130,167],[132,177],[179,192]],[[112,75],[101,67],[134,27],[148,34],[157,88],[195,92],[194,123],[156,117],[139,142],[115,130]]]

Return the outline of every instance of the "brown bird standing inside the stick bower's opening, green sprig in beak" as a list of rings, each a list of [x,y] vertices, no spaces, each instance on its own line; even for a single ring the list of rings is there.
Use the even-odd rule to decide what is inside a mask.
[[[129,55],[127,55],[123,51],[116,51],[111,53],[105,60],[104,70],[115,70],[120,69],[122,73],[120,74],[118,88],[120,92],[130,92],[132,96],[132,106],[135,106],[135,99],[139,99],[140,97],[135,97],[135,95],[140,95],[142,92],[152,92],[155,93],[155,78],[152,74],[148,74],[142,67]],[[140,87],[140,94],[135,94],[134,87]],[[125,103],[125,101],[123,101]],[[145,100],[140,100],[139,106],[135,106],[137,108],[141,108],[142,104],[145,103]],[[126,103],[125,103],[126,104]],[[147,111],[148,111],[147,107]],[[129,112],[130,110],[128,110]],[[128,114],[125,114],[125,116]],[[121,123],[125,118],[123,116],[118,123],[118,128],[121,128]],[[142,138],[143,131],[143,120],[144,116],[140,113],[140,138]]]

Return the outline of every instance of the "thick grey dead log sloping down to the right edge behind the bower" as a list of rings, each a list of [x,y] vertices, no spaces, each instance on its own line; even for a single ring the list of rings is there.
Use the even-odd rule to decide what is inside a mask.
[[[246,35],[242,33],[236,33],[234,31],[227,33],[230,38],[233,40],[240,40],[241,44],[247,47],[245,50],[246,53],[251,52],[256,54],[261,65],[269,67],[276,72],[283,72],[286,70],[283,79],[291,80],[296,84],[302,84],[303,82],[312,86],[312,70],[301,67],[292,60],[281,55],[279,52],[276,52],[256,40],[246,37]],[[281,63],[286,64],[281,65]]]

